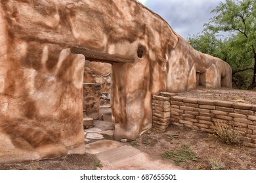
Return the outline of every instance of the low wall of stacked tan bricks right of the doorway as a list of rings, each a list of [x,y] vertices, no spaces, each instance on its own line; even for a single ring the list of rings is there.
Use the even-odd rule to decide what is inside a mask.
[[[214,133],[216,124],[232,125],[245,146],[256,147],[256,105],[175,96],[153,95],[153,126],[164,131],[171,125]]]

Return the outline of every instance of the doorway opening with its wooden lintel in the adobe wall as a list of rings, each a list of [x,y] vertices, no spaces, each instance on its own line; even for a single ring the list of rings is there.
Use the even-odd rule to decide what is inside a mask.
[[[85,141],[93,139],[87,138],[91,131],[112,130],[114,134],[114,124],[112,122],[112,110],[110,105],[110,86],[112,83],[112,65],[115,63],[133,63],[132,59],[121,58],[106,52],[89,50],[85,48],[71,48],[74,54],[85,56],[85,69],[83,75],[83,114]],[[97,127],[98,129],[92,129]],[[88,134],[87,134],[88,133]],[[102,134],[94,134],[91,138],[102,138]]]

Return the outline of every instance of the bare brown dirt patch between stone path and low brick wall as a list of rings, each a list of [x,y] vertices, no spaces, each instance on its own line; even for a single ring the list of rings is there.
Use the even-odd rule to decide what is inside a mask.
[[[158,133],[152,129],[144,133],[137,141],[127,142],[127,144],[146,152],[151,158],[164,159],[166,162],[179,165],[182,169],[256,169],[255,148],[224,144],[215,135],[174,125],[170,126],[165,133]],[[181,161],[187,162],[181,162],[163,157],[166,152],[177,152],[184,146],[194,152],[196,159],[189,160],[184,157]]]

